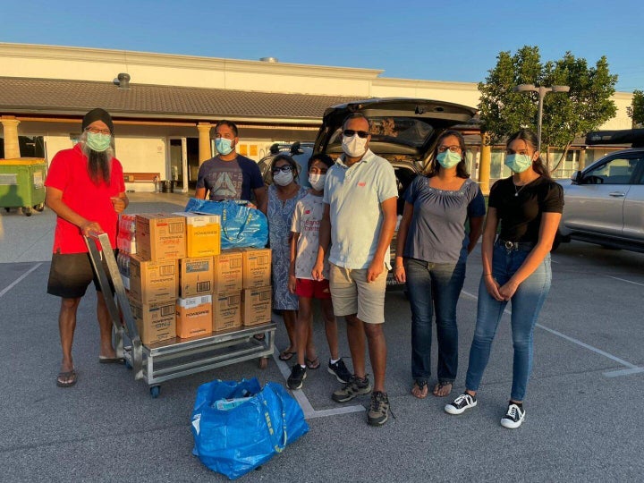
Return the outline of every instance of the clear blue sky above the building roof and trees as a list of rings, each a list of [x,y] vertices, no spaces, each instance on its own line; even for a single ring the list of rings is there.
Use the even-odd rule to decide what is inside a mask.
[[[499,52],[530,45],[542,61],[606,55],[617,90],[644,89],[641,1],[19,0],[3,2],[0,18],[0,42],[274,56],[421,80],[478,82]]]

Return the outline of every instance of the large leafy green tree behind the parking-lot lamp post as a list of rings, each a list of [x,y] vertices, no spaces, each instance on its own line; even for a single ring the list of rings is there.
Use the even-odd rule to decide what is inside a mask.
[[[563,148],[563,156],[575,137],[596,130],[617,112],[611,100],[617,76],[609,72],[604,56],[594,67],[570,52],[542,64],[538,47],[525,46],[515,55],[501,52],[496,58],[485,82],[479,82],[481,131],[492,144],[521,128],[538,131],[538,94],[514,92],[519,84],[570,86],[568,94],[544,97],[541,124],[542,147]]]

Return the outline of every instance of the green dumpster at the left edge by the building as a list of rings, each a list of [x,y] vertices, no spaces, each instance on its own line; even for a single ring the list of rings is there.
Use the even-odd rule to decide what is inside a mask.
[[[31,209],[45,208],[47,161],[41,157],[0,159],[0,208],[20,208],[26,216]]]

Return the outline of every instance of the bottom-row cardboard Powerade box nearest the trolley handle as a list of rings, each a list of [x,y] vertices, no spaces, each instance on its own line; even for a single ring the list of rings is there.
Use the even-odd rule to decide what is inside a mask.
[[[140,304],[130,301],[132,316],[144,345],[176,337],[176,301]]]

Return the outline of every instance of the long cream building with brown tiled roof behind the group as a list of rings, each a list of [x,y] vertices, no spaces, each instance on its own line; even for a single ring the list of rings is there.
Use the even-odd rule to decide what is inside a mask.
[[[152,180],[192,189],[199,164],[215,152],[216,121],[240,127],[238,151],[259,160],[274,142],[315,140],[328,106],[369,97],[417,97],[476,107],[471,82],[387,79],[383,71],[318,65],[164,55],[122,50],[0,43],[0,157],[46,157],[71,148],[80,120],[104,107],[114,117],[116,156],[127,188],[152,191]],[[631,94],[615,93],[617,115],[602,129],[629,129]],[[487,191],[503,175],[503,152],[464,132],[470,170]],[[573,147],[568,175],[603,150]],[[551,158],[556,153],[550,153]]]

